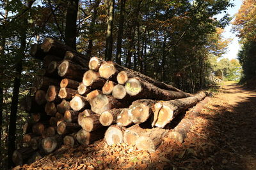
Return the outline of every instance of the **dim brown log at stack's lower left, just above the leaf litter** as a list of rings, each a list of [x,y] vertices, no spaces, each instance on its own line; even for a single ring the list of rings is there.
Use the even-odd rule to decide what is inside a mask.
[[[52,153],[62,145],[63,139],[60,135],[47,137],[42,140],[42,148],[45,153]]]

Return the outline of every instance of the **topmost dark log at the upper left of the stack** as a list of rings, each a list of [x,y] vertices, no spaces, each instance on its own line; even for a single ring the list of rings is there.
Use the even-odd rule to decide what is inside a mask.
[[[41,49],[45,53],[56,55],[56,56],[60,57],[61,59],[64,58],[65,53],[68,50],[74,51],[71,47],[69,47],[67,45],[63,45],[63,43],[61,43],[60,41],[57,41],[52,38],[45,38],[44,42],[41,45]]]

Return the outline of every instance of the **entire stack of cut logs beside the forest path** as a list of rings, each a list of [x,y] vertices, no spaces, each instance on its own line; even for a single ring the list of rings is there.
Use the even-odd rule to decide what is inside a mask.
[[[89,145],[101,138],[108,145],[125,142],[154,152],[164,136],[183,141],[193,118],[173,130],[164,127],[205,98],[205,93],[182,92],[115,62],[87,59],[51,38],[31,46],[31,56],[42,60],[43,68],[22,101],[31,121],[24,125],[27,147],[13,153],[16,165],[63,144]]]

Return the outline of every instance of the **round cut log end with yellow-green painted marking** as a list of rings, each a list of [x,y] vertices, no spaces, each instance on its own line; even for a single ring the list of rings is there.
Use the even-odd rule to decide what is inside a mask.
[[[131,96],[136,96],[142,90],[141,83],[136,78],[129,78],[125,83],[125,90],[127,94]]]

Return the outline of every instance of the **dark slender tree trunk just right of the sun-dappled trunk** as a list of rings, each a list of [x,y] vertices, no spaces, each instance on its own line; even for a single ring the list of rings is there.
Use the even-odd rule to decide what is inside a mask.
[[[117,35],[117,42],[116,42],[116,63],[121,64],[121,53],[122,53],[122,38],[123,38],[123,31],[124,31],[124,7],[125,7],[126,0],[120,1],[120,18],[118,24],[118,35]]]

